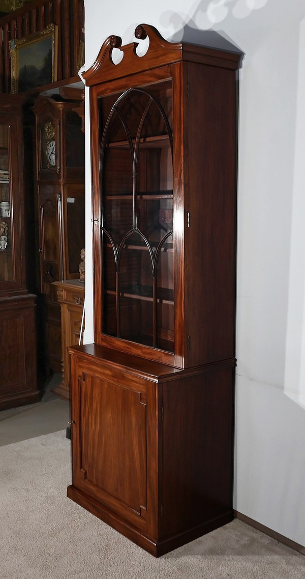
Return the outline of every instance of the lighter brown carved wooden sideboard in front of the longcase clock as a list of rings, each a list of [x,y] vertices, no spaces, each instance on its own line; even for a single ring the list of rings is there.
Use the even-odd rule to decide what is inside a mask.
[[[85,284],[79,280],[54,281],[57,301],[61,306],[61,372],[62,382],[53,392],[63,400],[70,398],[70,367],[68,346],[79,343],[81,318],[83,316]]]

